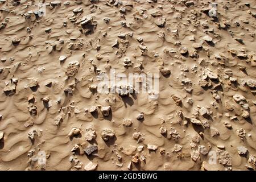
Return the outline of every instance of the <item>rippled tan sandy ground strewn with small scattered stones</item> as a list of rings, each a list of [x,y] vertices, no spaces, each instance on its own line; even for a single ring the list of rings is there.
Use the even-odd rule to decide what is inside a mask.
[[[1,170],[255,168],[254,0],[57,2],[0,1]],[[97,93],[110,68],[158,100]]]

